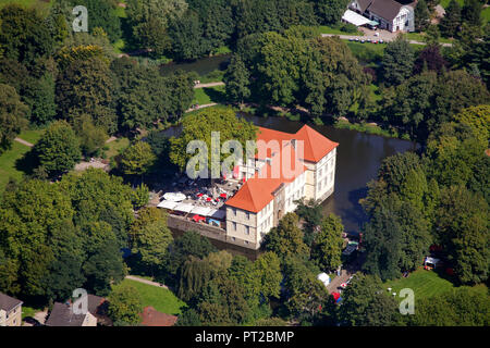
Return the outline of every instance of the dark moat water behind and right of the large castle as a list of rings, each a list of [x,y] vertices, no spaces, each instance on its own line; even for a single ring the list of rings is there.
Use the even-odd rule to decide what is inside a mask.
[[[243,115],[258,126],[282,130],[297,132],[304,124],[284,117],[258,117]],[[332,126],[309,125],[329,139],[339,142],[335,169],[335,191],[323,203],[324,214],[335,213],[342,217],[345,231],[358,233],[366,216],[358,203],[366,197],[366,184],[376,178],[381,161],[397,152],[416,150],[413,141],[387,138]],[[179,136],[180,128],[164,130],[168,136]]]

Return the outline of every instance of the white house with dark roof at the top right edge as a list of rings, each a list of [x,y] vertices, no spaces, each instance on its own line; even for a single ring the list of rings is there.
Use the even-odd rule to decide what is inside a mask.
[[[379,28],[394,33],[415,30],[415,4],[402,4],[394,0],[353,0],[348,8],[378,22]]]

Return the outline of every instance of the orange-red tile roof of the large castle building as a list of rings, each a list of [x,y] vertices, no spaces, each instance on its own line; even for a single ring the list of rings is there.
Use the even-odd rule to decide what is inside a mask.
[[[268,149],[267,157],[271,158],[272,165],[266,163],[262,166],[260,174],[256,173],[226,201],[228,206],[257,213],[273,199],[273,191],[277,190],[281,184],[293,182],[307,170],[307,167],[296,159],[295,151],[292,151],[292,139],[304,141],[303,160],[308,162],[318,162],[339,146],[338,142],[329,140],[307,125],[295,134],[259,127],[257,140],[264,140],[266,142],[278,140],[280,153],[272,153],[272,151]],[[258,146],[260,146],[260,144]],[[291,157],[284,156],[286,153],[291,154]],[[260,154],[260,151],[257,153],[256,158],[259,157],[264,157]],[[282,161],[286,159],[290,159],[291,162],[281,165],[283,164]],[[294,165],[292,163],[294,163]],[[279,165],[279,173],[274,172],[275,165]],[[292,173],[289,174],[292,175],[285,175],[286,173],[284,173],[282,169],[291,169]]]

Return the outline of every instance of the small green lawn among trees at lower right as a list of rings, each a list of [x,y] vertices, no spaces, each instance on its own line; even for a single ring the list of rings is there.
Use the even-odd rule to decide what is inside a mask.
[[[415,298],[428,298],[446,293],[454,288],[453,283],[441,277],[434,271],[419,269],[412,272],[408,277],[387,282],[385,288],[391,287],[392,293],[399,294],[403,288],[414,290]]]

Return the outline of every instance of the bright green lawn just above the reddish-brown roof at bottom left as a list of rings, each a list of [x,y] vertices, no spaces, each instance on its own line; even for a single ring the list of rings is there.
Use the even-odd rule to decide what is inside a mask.
[[[131,279],[124,279],[123,283],[132,285],[138,290],[144,307],[151,306],[159,312],[172,315],[181,314],[182,308],[186,307],[185,302],[169,289]]]

